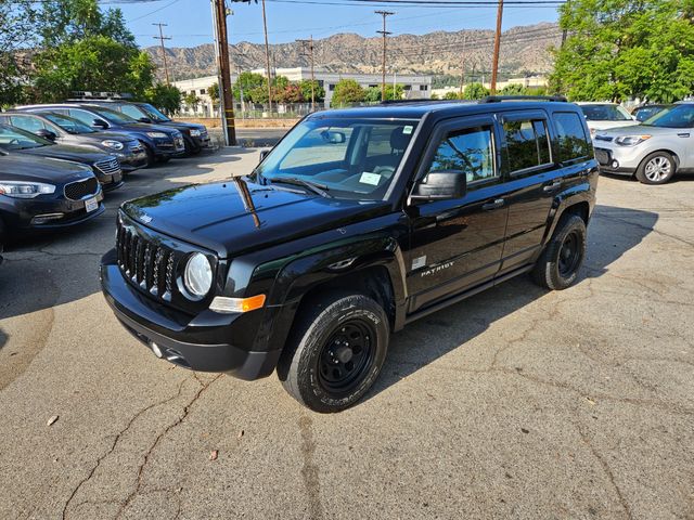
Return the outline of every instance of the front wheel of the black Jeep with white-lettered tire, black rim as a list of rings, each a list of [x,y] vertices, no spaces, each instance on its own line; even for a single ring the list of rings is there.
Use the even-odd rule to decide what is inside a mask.
[[[389,335],[388,317],[371,298],[322,295],[295,322],[278,377],[304,406],[339,412],[359,401],[378,377]]]

